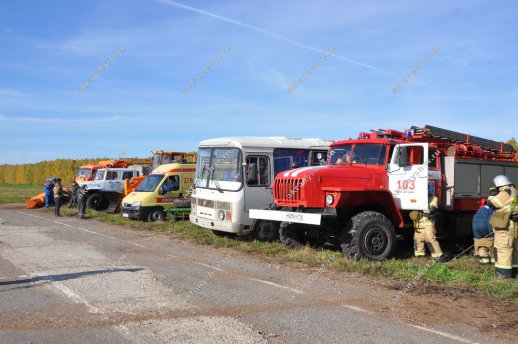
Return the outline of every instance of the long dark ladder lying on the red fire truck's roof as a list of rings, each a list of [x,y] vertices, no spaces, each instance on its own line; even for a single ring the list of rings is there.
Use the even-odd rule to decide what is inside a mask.
[[[492,151],[494,153],[516,152],[513,146],[504,144],[503,142],[488,140],[477,136],[471,136],[469,134],[462,134],[432,125],[425,125],[424,127],[412,125],[410,128],[414,132],[414,138],[430,138],[437,141],[447,141],[455,144],[480,146],[483,150]]]

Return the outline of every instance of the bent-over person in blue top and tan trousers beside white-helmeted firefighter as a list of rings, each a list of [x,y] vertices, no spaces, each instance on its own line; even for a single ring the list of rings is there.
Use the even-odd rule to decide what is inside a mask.
[[[495,262],[493,252],[495,243],[495,233],[489,223],[495,211],[484,205],[473,216],[471,227],[473,228],[473,241],[475,243],[474,256],[478,257],[480,264],[491,264]]]

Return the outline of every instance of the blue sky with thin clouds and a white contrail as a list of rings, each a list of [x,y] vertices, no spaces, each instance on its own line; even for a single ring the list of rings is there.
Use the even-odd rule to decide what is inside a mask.
[[[517,15],[516,1],[2,0],[0,164],[424,124],[507,140],[518,136]]]

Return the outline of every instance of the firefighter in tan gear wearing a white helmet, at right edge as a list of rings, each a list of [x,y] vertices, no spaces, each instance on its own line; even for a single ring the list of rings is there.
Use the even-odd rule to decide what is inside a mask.
[[[506,176],[496,176],[496,196],[487,199],[487,206],[494,209],[491,225],[495,232],[495,277],[516,278],[518,275],[518,191]]]

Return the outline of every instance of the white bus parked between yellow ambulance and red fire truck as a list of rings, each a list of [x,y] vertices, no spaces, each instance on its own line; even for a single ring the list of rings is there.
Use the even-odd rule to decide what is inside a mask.
[[[191,222],[216,235],[252,234],[261,241],[278,238],[278,223],[250,219],[250,209],[274,202],[275,176],[327,160],[333,140],[290,137],[220,137],[199,144]]]

